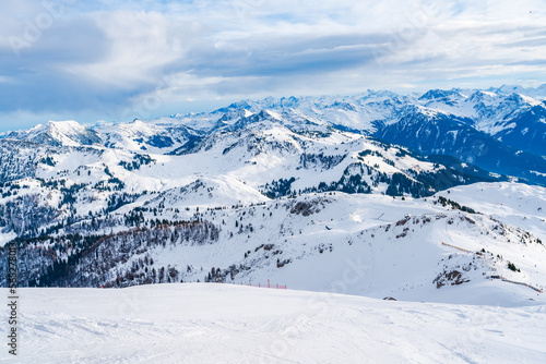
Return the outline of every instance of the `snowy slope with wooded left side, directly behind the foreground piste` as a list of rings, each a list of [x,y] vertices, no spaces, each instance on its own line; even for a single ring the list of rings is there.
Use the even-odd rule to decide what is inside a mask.
[[[438,199],[327,193],[251,206],[211,206],[205,197],[204,204],[177,208],[162,201],[135,208],[136,215],[112,215],[119,222],[105,221],[105,235],[84,255],[73,251],[81,242],[63,234],[36,241],[36,248],[50,250],[61,262],[79,254],[79,264],[56,286],[263,284],[270,279],[293,289],[379,299],[501,306],[546,302],[533,289],[543,290],[546,282],[546,247],[535,235],[485,215],[452,210]],[[123,227],[128,218],[141,221],[140,228]],[[92,229],[88,222],[67,232]],[[24,255],[33,252],[28,247]],[[25,267],[33,262],[22,258]],[[20,276],[46,282],[50,277],[32,269]]]

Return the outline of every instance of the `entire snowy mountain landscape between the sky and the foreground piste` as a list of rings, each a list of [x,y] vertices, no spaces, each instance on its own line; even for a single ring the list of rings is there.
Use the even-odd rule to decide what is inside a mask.
[[[329,291],[357,265],[343,293],[529,304],[546,281],[546,201],[517,182],[546,180],[545,108],[503,90],[370,90],[49,122],[0,139],[0,242],[19,244],[22,286]]]

